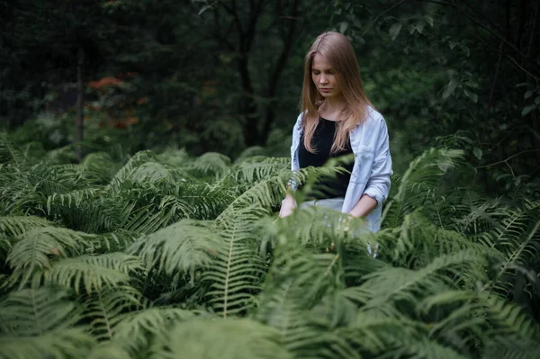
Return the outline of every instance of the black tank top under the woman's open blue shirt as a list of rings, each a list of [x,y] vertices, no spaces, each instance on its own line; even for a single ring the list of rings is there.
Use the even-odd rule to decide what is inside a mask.
[[[311,144],[315,148],[316,153],[308,151],[303,143],[303,134],[300,139],[300,146],[298,148],[298,160],[301,168],[308,166],[319,167],[326,164],[331,157],[341,157],[353,153],[350,145],[350,141],[347,140],[345,150],[337,153],[330,154],[330,149],[334,143],[336,136],[336,130],[338,129],[338,123],[336,121],[329,121],[320,117]],[[341,165],[351,172],[355,162],[351,159],[346,165]],[[320,200],[324,198],[345,197],[347,193],[347,186],[351,175],[349,173],[338,174],[337,176],[320,176],[318,183],[313,184],[311,193],[307,193],[307,200]]]

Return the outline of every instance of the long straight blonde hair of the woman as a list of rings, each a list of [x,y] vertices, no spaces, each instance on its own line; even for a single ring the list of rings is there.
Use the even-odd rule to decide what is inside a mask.
[[[335,153],[346,148],[349,131],[365,121],[367,106],[372,104],[365,95],[351,42],[339,32],[323,32],[313,42],[304,59],[301,111],[305,112],[302,117],[305,148],[312,153],[315,152],[315,148],[311,146],[311,139],[319,123],[318,109],[324,100],[311,79],[311,65],[315,54],[321,54],[328,59],[338,76],[347,103],[345,109],[338,114],[338,118],[344,120],[337,122],[338,130],[331,148],[331,153]]]

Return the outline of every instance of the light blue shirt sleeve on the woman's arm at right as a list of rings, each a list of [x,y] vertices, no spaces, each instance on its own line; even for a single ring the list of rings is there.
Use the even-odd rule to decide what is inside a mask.
[[[364,194],[377,201],[377,206],[382,205],[388,197],[388,193],[390,192],[390,177],[392,174],[392,157],[390,155],[388,128],[384,119],[381,119],[375,146],[374,165],[364,190]]]

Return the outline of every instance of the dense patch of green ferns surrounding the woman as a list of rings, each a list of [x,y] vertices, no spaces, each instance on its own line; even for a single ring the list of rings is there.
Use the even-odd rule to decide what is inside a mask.
[[[460,183],[457,150],[395,175],[373,234],[277,220],[286,158],[0,141],[0,358],[540,357],[540,202]]]

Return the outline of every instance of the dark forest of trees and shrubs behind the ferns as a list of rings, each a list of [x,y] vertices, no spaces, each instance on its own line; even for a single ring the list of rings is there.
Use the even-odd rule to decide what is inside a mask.
[[[0,120],[16,143],[288,156],[302,62],[346,34],[395,171],[461,148],[470,184],[538,189],[534,0],[0,2]],[[76,146],[75,146],[76,145]]]

